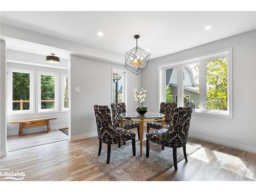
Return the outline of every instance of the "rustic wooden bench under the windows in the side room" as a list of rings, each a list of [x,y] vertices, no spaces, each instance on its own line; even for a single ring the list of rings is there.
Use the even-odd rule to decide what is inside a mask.
[[[57,117],[42,118],[42,119],[29,119],[23,121],[10,121],[9,123],[19,123],[18,136],[23,136],[23,129],[25,127],[46,125],[47,133],[51,132],[50,120],[57,119]]]

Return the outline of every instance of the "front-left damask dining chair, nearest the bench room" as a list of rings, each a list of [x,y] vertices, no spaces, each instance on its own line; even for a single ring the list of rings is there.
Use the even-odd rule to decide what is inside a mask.
[[[108,144],[108,154],[106,157],[106,164],[110,162],[111,145],[117,144],[121,147],[121,142],[132,140],[133,156],[136,155],[135,150],[135,136],[136,134],[122,129],[120,127],[114,128],[111,120],[111,113],[107,105],[94,105],[94,113],[97,123],[97,131],[99,138],[99,153],[100,156],[102,143]]]

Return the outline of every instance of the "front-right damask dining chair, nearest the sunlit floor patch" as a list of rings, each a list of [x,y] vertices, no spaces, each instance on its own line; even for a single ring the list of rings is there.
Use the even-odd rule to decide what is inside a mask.
[[[178,169],[177,148],[183,147],[183,154],[187,162],[186,143],[191,113],[191,106],[176,108],[173,115],[174,127],[169,127],[168,130],[160,129],[146,134],[146,157],[149,157],[150,155],[150,141],[152,141],[160,145],[173,148],[175,170]]]

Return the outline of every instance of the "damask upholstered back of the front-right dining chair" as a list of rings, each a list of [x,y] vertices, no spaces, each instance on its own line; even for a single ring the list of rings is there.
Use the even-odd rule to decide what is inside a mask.
[[[179,107],[174,112],[174,127],[163,134],[162,141],[165,146],[183,147],[187,142],[188,130],[191,120],[191,106]]]

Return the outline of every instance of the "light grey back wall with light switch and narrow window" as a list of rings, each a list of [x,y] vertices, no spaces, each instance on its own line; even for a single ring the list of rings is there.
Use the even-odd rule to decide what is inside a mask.
[[[137,103],[132,89],[141,88],[141,75],[125,70],[124,66],[71,55],[71,140],[77,135],[97,132],[94,104],[109,105],[112,95],[112,68],[126,72],[127,111],[135,111]],[[80,92],[74,92],[80,87]]]

